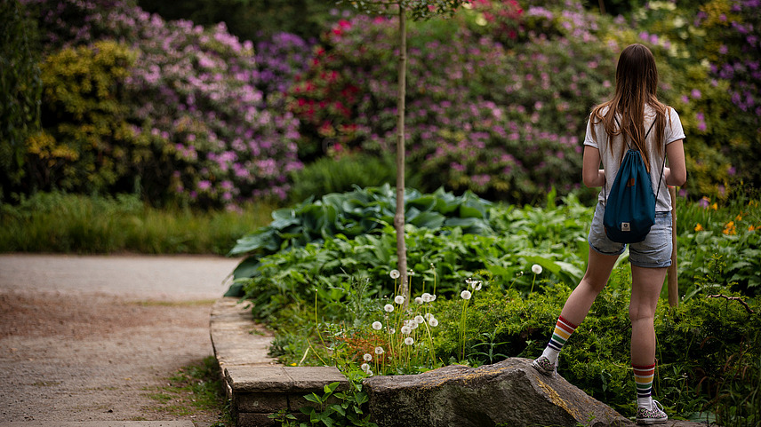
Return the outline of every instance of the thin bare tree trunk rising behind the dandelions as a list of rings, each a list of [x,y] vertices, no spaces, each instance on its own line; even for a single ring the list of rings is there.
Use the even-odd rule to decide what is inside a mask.
[[[399,88],[397,99],[397,213],[394,228],[397,230],[398,268],[401,273],[399,295],[410,300],[407,286],[407,247],[405,244],[405,86],[407,68],[407,30],[405,8],[399,5]]]

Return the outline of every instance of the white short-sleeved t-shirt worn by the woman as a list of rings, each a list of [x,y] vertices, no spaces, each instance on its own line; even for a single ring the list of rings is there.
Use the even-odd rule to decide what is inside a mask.
[[[605,115],[605,111],[602,112]],[[679,121],[679,115],[674,108],[669,107],[669,117],[666,119],[666,126],[663,129],[663,135],[655,135],[655,126],[653,130],[647,136],[645,144],[648,147],[661,146],[662,144],[670,144],[679,139],[685,138],[685,130],[682,129],[682,122]],[[590,115],[591,117],[591,115]],[[650,106],[645,106],[645,131],[650,129],[650,125],[655,120],[655,112]],[[592,138],[592,126],[591,120],[587,122],[587,136],[584,138],[585,146],[594,146],[600,151],[600,159],[603,162],[603,169],[605,170],[605,188],[600,190],[600,194],[597,196],[597,200],[605,202],[605,196],[611,193],[611,187],[613,181],[616,178],[619,167],[621,167],[621,144],[624,144],[623,138],[617,137],[613,140],[613,146],[608,143],[608,134],[605,133],[605,126],[603,123],[597,123],[595,125],[595,132],[597,134],[597,141]],[[657,202],[655,203],[655,210],[657,212],[671,210],[671,197],[669,195],[669,187],[661,180],[661,167],[663,166],[663,155],[660,149],[649,150],[648,162],[650,162],[650,182],[653,184],[653,192],[655,187],[661,182],[661,188],[658,192]]]

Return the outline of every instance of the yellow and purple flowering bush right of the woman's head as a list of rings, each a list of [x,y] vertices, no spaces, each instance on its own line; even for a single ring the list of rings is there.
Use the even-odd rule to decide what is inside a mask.
[[[659,59],[663,98],[685,126],[686,191],[724,199],[761,185],[761,14],[758,0],[692,8],[652,2],[634,14],[634,41]]]

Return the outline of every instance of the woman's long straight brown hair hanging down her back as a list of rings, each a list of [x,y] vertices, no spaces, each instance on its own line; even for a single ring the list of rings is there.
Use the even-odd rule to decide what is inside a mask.
[[[623,135],[623,138],[628,138],[642,154],[645,154],[643,160],[648,171],[650,161],[646,154],[650,152],[650,147],[645,146],[645,104],[655,111],[655,125],[652,130],[654,135],[663,135],[669,108],[658,100],[655,94],[657,89],[658,69],[655,67],[653,52],[642,44],[631,44],[621,51],[619,56],[613,99],[594,107],[590,117],[592,138],[597,140],[594,125],[603,123],[608,141]],[[616,124],[616,115],[620,116],[621,126]],[[661,144],[657,144],[656,147],[661,149]],[[624,151],[625,145],[622,145],[621,158]]]

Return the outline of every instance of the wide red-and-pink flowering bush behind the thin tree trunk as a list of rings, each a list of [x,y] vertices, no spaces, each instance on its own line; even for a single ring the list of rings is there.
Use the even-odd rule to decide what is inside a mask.
[[[409,167],[426,183],[423,190],[445,186],[533,202],[552,186],[560,194],[578,187],[580,135],[589,109],[610,90],[613,49],[587,47],[597,40],[590,32],[597,24],[581,9],[531,12],[540,17],[533,28],[551,21],[552,36],[525,30],[530,43],[511,50],[495,41],[509,28],[495,20],[493,36],[471,30],[473,13],[409,29],[405,130]],[[358,16],[324,36],[289,91],[301,144],[314,151],[325,141],[340,151],[393,150],[396,25]]]

